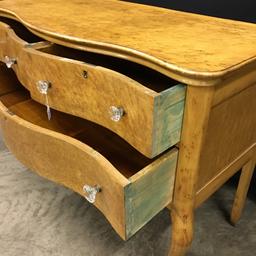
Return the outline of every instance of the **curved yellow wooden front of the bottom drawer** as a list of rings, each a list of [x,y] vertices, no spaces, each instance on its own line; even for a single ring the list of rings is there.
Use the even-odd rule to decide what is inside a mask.
[[[95,206],[123,236],[124,186],[128,181],[92,148],[68,136],[12,115],[0,103],[4,141],[11,152],[39,175],[84,195],[83,186],[99,184]]]

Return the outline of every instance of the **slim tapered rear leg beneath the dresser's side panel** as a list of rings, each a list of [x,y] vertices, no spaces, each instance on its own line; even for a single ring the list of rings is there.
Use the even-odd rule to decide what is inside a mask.
[[[244,209],[248,189],[254,171],[254,166],[254,162],[249,161],[242,168],[230,218],[230,221],[233,225],[235,225],[238,222]]]

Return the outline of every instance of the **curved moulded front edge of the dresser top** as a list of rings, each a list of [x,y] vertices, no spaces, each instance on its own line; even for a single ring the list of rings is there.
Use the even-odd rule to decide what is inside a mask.
[[[153,7],[158,8],[158,7]],[[158,8],[161,9],[161,8]],[[175,11],[178,12],[178,11]],[[191,14],[196,16],[201,16],[197,14]],[[221,69],[219,71],[197,71],[195,69],[182,67],[178,64],[173,64],[166,60],[162,60],[159,57],[155,57],[151,54],[136,50],[134,48],[103,42],[90,39],[84,39],[80,37],[74,37],[71,35],[50,31],[43,29],[41,27],[35,26],[25,19],[21,18],[17,13],[0,8],[0,16],[5,16],[8,18],[15,19],[21,22],[34,34],[49,40],[53,43],[58,43],[60,45],[86,50],[91,52],[102,53],[106,55],[111,55],[118,58],[127,59],[130,61],[137,62],[139,64],[145,65],[149,68],[155,69],[167,76],[172,77],[182,83],[188,83],[190,85],[198,86],[210,86],[218,83],[223,77],[228,74],[237,71],[240,68],[247,67],[248,65],[256,63],[256,56],[252,56],[248,59],[234,63],[228,68]],[[239,23],[239,22],[238,22]],[[252,25],[252,24],[250,24]]]

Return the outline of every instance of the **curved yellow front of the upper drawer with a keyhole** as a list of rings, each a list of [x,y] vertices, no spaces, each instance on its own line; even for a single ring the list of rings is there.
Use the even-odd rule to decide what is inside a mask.
[[[114,131],[145,155],[151,154],[154,93],[122,75],[61,59],[33,49],[23,52],[18,77],[36,101],[45,104],[37,82],[51,83],[49,105],[57,110],[86,118]],[[86,71],[87,78],[83,73]],[[123,108],[120,121],[111,119],[111,106]],[[144,127],[144,129],[141,129]]]

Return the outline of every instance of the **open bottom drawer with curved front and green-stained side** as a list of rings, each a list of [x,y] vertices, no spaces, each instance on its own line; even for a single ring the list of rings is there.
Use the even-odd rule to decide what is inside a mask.
[[[23,164],[85,196],[123,239],[171,202],[176,148],[148,159],[92,122],[54,110],[48,121],[45,106],[18,81],[14,86],[13,76],[10,71],[8,91],[0,65],[0,124],[7,147]]]

